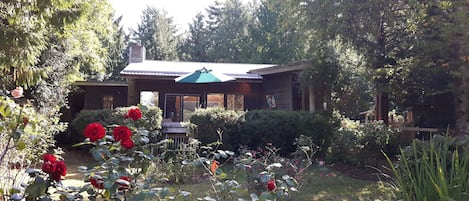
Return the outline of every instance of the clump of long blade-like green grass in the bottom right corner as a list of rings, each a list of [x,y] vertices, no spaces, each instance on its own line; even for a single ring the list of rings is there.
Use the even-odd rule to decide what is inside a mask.
[[[401,149],[397,164],[386,156],[398,199],[469,200],[469,136],[436,135]]]

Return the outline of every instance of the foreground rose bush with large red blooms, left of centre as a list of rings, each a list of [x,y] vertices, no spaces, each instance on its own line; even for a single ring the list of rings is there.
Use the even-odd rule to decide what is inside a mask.
[[[90,152],[98,162],[80,167],[89,182],[82,189],[90,195],[88,199],[140,200],[152,193],[155,196],[156,191],[145,188],[143,176],[155,160],[154,150],[159,148],[159,144],[150,143],[151,133],[157,132],[146,129],[149,126],[143,114],[147,111],[146,107],[131,107],[121,116],[120,125],[94,122],[84,129],[86,139],[76,146],[92,145]]]

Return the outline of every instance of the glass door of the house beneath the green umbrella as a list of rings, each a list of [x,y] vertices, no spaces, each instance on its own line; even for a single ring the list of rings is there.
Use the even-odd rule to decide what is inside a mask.
[[[195,109],[199,107],[199,104],[199,95],[166,94],[165,118],[171,119],[173,122],[187,121]]]

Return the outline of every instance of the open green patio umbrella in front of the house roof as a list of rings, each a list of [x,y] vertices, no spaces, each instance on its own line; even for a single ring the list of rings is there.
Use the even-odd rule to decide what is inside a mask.
[[[179,83],[212,83],[226,82],[230,80],[235,80],[235,78],[222,73],[213,72],[212,70],[208,70],[203,67],[202,69],[183,75],[174,80]]]

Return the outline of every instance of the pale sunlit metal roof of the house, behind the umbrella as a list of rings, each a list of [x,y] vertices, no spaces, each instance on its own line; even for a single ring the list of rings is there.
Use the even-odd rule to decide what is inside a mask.
[[[261,75],[250,73],[250,71],[274,66],[277,65],[145,60],[140,63],[130,63],[120,72],[120,75],[122,77],[145,76],[154,78],[176,78],[205,67],[236,79],[260,80],[262,79]]]

